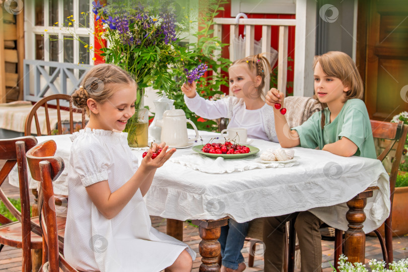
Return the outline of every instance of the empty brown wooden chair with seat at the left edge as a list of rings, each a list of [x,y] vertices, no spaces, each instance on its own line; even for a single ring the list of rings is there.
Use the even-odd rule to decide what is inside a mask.
[[[0,140],[0,160],[7,160],[0,171],[0,185],[6,180],[13,167],[18,165],[21,212],[19,212],[7,198],[5,192],[0,189],[0,198],[10,213],[17,218],[13,222],[0,214],[0,251],[4,245],[22,248],[22,271],[31,271],[31,249],[41,249],[41,230],[32,224],[39,222],[38,218],[30,218],[30,197],[28,188],[26,149],[37,144],[32,137],[21,137],[8,140]]]

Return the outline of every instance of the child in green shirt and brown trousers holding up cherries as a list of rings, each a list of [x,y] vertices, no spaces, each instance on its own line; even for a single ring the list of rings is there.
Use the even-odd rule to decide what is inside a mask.
[[[350,56],[331,51],[315,57],[314,98],[322,110],[302,125],[289,128],[285,118],[284,97],[270,89],[265,102],[275,106],[275,128],[283,148],[301,146],[350,157],[376,159],[370,118],[363,96],[363,82]],[[296,214],[270,217],[264,221],[264,271],[282,270],[285,222]],[[308,211],[300,212],[295,229],[301,252],[301,271],[321,270],[320,225],[323,222]]]

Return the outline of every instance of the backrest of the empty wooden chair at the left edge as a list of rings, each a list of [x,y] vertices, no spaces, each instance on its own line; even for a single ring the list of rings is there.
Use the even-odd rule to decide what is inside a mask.
[[[25,259],[31,259],[30,245],[31,245],[31,219],[30,219],[30,195],[28,187],[27,176],[27,161],[26,150],[34,147],[37,144],[37,139],[32,136],[20,137],[15,139],[0,140],[0,160],[6,160],[3,168],[0,170],[0,186],[6,180],[13,167],[18,165],[19,186],[20,186],[20,201],[21,212],[9,200],[4,191],[0,188],[0,199],[10,211],[10,213],[17,218],[21,223],[22,233],[22,248]],[[0,214],[0,223],[5,225],[13,221]],[[37,229],[38,233],[38,229]],[[27,261],[30,263],[30,261]]]

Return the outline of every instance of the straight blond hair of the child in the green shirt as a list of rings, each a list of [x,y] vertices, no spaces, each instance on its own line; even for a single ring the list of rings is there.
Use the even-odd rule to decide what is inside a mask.
[[[356,64],[348,54],[340,51],[330,51],[322,55],[317,55],[314,57],[313,70],[315,69],[317,62],[319,62],[324,74],[341,80],[344,86],[350,88],[350,90],[346,92],[344,103],[349,99],[361,99],[363,97],[363,80],[357,71]],[[316,93],[313,98],[320,103]],[[320,105],[322,111],[321,128],[323,129],[325,124],[323,109],[327,107],[327,105],[326,103],[320,103]]]

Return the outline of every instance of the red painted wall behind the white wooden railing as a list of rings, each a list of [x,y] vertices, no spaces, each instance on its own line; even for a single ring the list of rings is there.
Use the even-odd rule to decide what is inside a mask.
[[[228,3],[223,6],[225,11],[221,11],[217,17],[222,17],[222,18],[231,18],[231,3]],[[256,19],[295,19],[295,15],[293,14],[247,14],[248,18],[256,18]],[[229,25],[223,25],[222,33],[222,42],[223,43],[230,43],[230,26]],[[239,26],[239,34],[244,36],[244,26],[240,25]],[[261,36],[262,36],[262,26],[255,26],[255,40],[259,41]],[[290,26],[289,27],[289,41],[288,41],[288,56],[291,57],[292,59],[295,59],[295,27]],[[279,27],[278,26],[273,26],[271,27],[271,42],[270,45],[274,47],[276,50],[278,50],[278,42],[279,42]],[[228,52],[228,46],[222,49],[222,57],[224,58],[229,58],[229,52]],[[277,63],[275,66],[277,66]],[[288,62],[288,67],[291,67],[293,70],[294,67],[294,61]],[[274,68],[274,67],[273,67]],[[226,76],[227,73],[224,73]],[[293,71],[288,71],[288,82],[293,82]],[[228,87],[222,86],[221,90],[224,93],[228,93]],[[287,88],[287,94],[292,94],[293,93],[293,87]]]

